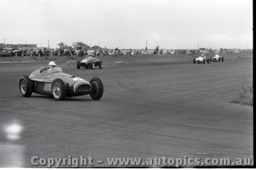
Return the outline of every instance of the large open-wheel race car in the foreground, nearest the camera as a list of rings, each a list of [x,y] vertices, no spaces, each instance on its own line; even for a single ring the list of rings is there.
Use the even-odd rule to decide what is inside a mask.
[[[100,100],[103,95],[103,84],[99,78],[90,82],[62,72],[60,67],[37,69],[19,80],[19,91],[24,97],[30,97],[32,92],[51,95],[57,101],[65,97],[90,94],[93,100]]]

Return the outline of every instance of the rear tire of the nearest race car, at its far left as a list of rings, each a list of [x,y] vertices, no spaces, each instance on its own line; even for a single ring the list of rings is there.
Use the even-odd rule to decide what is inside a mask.
[[[29,98],[32,94],[32,82],[28,76],[23,76],[19,80],[19,91],[22,96]]]

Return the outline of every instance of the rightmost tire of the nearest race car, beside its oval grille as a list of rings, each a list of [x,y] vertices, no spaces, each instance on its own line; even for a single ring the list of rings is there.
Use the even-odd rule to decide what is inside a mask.
[[[93,100],[100,100],[103,95],[103,84],[99,78],[92,78],[90,80],[90,84],[92,86],[92,91],[90,96]]]

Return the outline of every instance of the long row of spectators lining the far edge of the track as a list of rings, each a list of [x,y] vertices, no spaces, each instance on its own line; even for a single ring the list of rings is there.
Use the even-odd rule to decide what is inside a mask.
[[[19,48],[19,49],[1,49],[0,57],[42,57],[42,56],[84,56],[84,55],[97,55],[97,56],[107,56],[107,55],[140,55],[140,54],[200,54],[200,53],[252,53],[252,50],[223,50],[220,51],[200,51],[200,50],[159,50],[157,46],[155,50],[119,50],[118,47],[115,50],[109,50],[105,48],[100,48],[98,50],[83,50],[81,48],[54,48],[49,49],[46,47],[42,48]]]

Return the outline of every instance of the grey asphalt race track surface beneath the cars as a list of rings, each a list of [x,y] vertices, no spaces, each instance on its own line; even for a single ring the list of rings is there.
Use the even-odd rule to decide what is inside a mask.
[[[102,99],[23,98],[19,78],[48,62],[0,63],[1,167],[37,167],[33,156],[92,156],[86,167],[109,167],[106,158],[253,158],[253,108],[230,103],[252,82],[252,57],[110,58],[93,70],[56,61],[67,74],[99,77]]]

